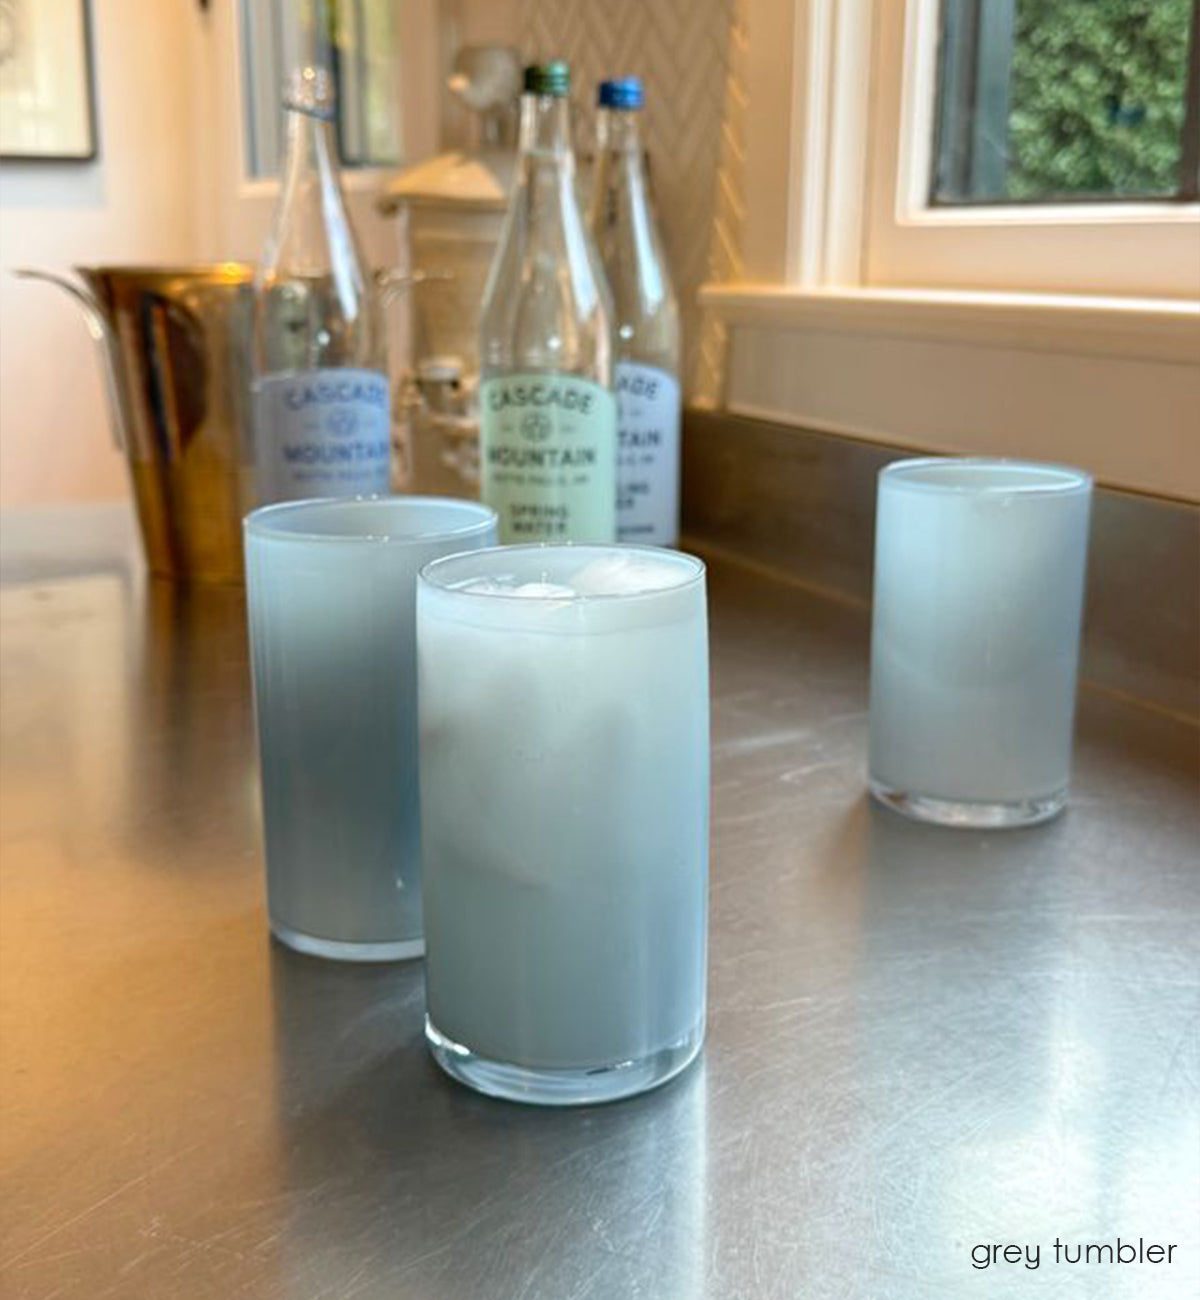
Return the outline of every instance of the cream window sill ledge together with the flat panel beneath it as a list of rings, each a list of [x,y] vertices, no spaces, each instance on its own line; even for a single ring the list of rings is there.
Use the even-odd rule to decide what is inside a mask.
[[[706,285],[727,410],[1200,500],[1200,304]]]

